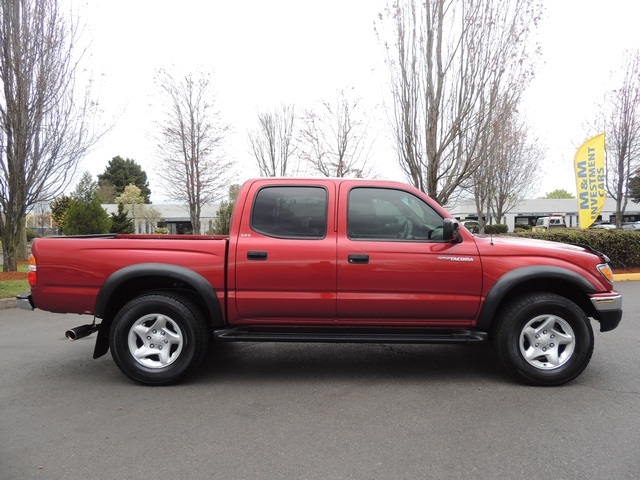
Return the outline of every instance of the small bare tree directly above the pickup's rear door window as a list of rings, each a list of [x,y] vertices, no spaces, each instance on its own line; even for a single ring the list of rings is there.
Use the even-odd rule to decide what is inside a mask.
[[[291,164],[296,150],[294,125],[293,106],[282,105],[280,110],[258,113],[258,127],[249,132],[249,145],[261,176],[286,177],[297,172],[297,166]]]

